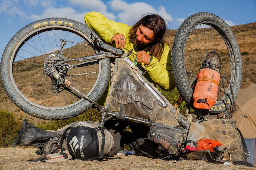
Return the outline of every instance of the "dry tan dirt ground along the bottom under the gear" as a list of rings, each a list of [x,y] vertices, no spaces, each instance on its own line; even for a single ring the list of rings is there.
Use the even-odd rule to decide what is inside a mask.
[[[201,160],[165,161],[134,155],[114,156],[114,159],[103,160],[101,162],[98,160],[82,161],[74,159],[60,163],[32,163],[32,159],[40,157],[40,155],[35,153],[36,150],[36,148],[22,147],[0,148],[0,169],[253,169],[245,166],[211,164]]]

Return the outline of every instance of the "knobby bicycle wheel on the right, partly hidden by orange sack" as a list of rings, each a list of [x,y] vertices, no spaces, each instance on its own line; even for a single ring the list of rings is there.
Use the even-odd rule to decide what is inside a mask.
[[[210,112],[224,112],[237,97],[242,79],[240,49],[227,23],[217,15],[201,12],[189,16],[181,24],[172,46],[172,67],[177,88],[186,103],[193,103],[193,88],[204,60],[216,61],[219,73],[228,81],[220,81],[217,103]],[[225,89],[223,88],[225,86]],[[227,99],[225,99],[226,93]],[[227,106],[227,108],[226,108]]]

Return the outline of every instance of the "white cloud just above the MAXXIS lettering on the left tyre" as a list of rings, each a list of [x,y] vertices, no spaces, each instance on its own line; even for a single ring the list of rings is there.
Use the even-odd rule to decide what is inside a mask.
[[[62,7],[62,8],[46,8],[41,15],[32,14],[30,17],[32,20],[39,20],[42,18],[49,18],[49,17],[62,17],[62,18],[69,18],[74,19],[76,21],[84,23],[84,16],[88,12],[79,13],[71,7]]]

